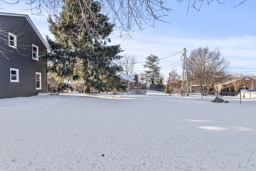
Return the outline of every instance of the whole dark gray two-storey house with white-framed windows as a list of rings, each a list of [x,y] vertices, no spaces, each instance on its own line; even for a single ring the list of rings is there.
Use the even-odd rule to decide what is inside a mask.
[[[27,15],[0,13],[0,99],[47,92],[49,49]]]

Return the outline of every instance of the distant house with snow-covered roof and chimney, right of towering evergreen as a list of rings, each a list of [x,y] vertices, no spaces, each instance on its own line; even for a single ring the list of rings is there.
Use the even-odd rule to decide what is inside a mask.
[[[121,81],[127,82],[128,89],[141,88],[141,81],[138,80],[138,75],[134,75],[134,78],[122,72],[119,74]]]

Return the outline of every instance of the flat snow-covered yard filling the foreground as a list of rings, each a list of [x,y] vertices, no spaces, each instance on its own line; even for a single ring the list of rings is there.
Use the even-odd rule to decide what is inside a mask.
[[[0,99],[0,170],[255,171],[256,107],[174,95]]]

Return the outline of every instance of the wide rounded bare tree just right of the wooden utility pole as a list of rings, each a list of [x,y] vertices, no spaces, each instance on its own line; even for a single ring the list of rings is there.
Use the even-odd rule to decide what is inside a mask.
[[[210,84],[221,83],[228,78],[229,62],[221,57],[216,48],[210,50],[208,46],[192,50],[188,62],[188,80],[209,91]]]

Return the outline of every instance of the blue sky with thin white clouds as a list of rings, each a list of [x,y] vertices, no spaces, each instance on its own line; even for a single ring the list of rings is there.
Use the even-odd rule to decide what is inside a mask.
[[[165,6],[173,11],[162,19],[171,23],[156,22],[155,28],[145,25],[144,30],[138,30],[138,26],[134,26],[132,38],[126,39],[119,38],[119,30],[116,29],[110,36],[111,44],[121,44],[124,50],[122,54],[135,55],[138,62],[145,62],[150,54],[158,56],[159,59],[165,58],[160,60],[165,81],[172,68],[181,73],[180,51],[183,48],[188,50],[189,56],[191,50],[205,46],[220,50],[222,56],[230,62],[231,73],[256,75],[256,1],[246,0],[236,6],[243,1],[219,0],[225,2],[219,4],[214,0],[208,5],[205,0],[200,12],[190,8],[190,4],[187,15],[188,1],[166,0]],[[0,8],[4,8],[0,12],[28,14],[43,37],[50,35],[46,18],[24,11],[23,9],[30,8],[25,2],[27,1],[21,0],[14,5],[0,2]],[[177,52],[180,53],[176,54]],[[166,58],[168,56],[171,57]],[[138,74],[145,70],[142,64],[136,64],[135,72]]]

